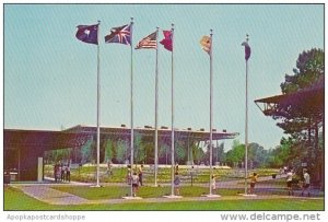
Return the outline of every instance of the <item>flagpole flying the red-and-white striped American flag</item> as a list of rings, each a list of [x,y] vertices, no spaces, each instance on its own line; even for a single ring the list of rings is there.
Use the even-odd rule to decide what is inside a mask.
[[[159,27],[156,27],[156,77],[155,77],[155,187],[157,186],[157,165],[159,165]]]

